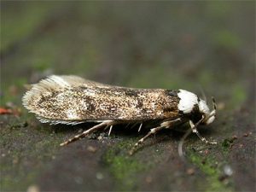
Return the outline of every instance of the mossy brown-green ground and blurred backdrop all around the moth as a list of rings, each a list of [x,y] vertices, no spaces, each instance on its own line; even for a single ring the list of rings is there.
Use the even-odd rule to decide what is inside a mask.
[[[1,191],[255,190],[255,2],[1,1]],[[44,125],[24,84],[49,74],[215,96],[218,116],[177,154],[180,131],[117,125],[61,148],[91,125]],[[180,128],[180,127],[179,127]],[[188,126],[183,127],[188,128]],[[178,130],[178,127],[177,127]]]

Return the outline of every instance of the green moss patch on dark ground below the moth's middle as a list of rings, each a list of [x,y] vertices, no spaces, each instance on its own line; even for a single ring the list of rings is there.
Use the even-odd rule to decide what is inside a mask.
[[[122,142],[108,150],[103,160],[113,175],[116,190],[136,190],[137,173],[142,172],[148,165],[130,156],[130,142]]]

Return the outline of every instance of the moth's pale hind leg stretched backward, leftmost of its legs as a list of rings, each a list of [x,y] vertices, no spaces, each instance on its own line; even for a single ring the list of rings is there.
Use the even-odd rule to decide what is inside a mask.
[[[69,143],[73,143],[73,142],[79,140],[79,138],[85,137],[86,135],[90,134],[91,132],[94,132],[96,130],[102,129],[105,126],[109,126],[109,125],[112,126],[113,124],[114,124],[113,120],[105,120],[102,123],[91,127],[89,130],[86,130],[86,131],[80,133],[79,135],[76,135],[75,137],[72,137],[72,138],[68,139],[66,142],[61,143],[60,145],[64,146],[64,145],[67,145]]]

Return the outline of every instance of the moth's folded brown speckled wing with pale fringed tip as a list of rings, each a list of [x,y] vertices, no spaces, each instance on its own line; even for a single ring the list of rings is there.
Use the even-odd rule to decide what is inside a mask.
[[[26,92],[23,103],[40,119],[62,121],[174,119],[179,98],[175,90],[131,89],[85,79],[68,83],[44,79]],[[66,77],[66,78],[65,78]],[[83,82],[84,80],[84,82]],[[64,83],[65,83],[64,82]],[[174,94],[170,94],[174,93]]]

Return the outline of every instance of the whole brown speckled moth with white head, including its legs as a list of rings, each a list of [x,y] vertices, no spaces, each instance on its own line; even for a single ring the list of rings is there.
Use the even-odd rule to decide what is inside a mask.
[[[148,120],[157,122],[139,144],[162,129],[188,123],[191,130],[205,143],[197,131],[198,125],[209,125],[216,116],[216,103],[212,97],[212,111],[207,102],[187,90],[134,89],[101,84],[72,75],[52,75],[32,84],[22,98],[23,105],[42,123],[51,125],[77,125],[94,122],[95,126],[61,143],[73,143],[91,132],[113,125],[140,124],[139,131]]]

